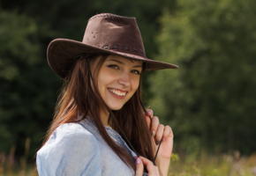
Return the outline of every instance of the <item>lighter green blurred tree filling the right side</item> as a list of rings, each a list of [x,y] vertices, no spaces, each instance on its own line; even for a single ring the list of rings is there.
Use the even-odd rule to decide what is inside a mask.
[[[178,149],[256,150],[255,9],[253,0],[181,0],[162,16],[158,57],[180,69],[151,77],[151,104]]]

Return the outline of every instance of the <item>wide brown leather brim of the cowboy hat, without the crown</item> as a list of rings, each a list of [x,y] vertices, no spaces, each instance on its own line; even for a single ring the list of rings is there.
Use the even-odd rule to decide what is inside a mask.
[[[167,62],[159,62],[142,57],[139,55],[131,55],[124,52],[119,52],[113,49],[103,49],[87,45],[77,40],[56,39],[49,43],[47,48],[47,60],[52,70],[60,77],[66,77],[71,70],[74,59],[81,54],[106,53],[112,55],[121,55],[127,58],[146,62],[145,70],[162,70],[162,69],[177,69],[178,66]]]

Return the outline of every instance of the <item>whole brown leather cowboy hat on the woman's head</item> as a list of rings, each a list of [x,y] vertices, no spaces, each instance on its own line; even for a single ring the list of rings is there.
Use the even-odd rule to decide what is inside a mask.
[[[177,65],[147,58],[136,18],[101,13],[89,18],[81,41],[56,39],[49,43],[49,66],[66,77],[78,55],[106,53],[145,62],[145,70],[176,69]]]

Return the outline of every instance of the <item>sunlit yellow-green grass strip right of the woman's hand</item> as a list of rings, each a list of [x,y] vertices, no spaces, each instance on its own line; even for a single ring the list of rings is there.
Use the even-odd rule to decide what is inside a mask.
[[[234,155],[201,154],[180,159],[174,154],[169,176],[256,176],[256,155],[244,158],[235,152]]]

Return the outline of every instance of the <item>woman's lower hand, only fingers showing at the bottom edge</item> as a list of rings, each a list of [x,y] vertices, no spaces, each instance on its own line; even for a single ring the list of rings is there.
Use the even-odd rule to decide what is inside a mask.
[[[139,157],[136,159],[136,173],[135,176],[142,176],[144,167],[147,170],[148,176],[160,176],[158,167],[147,158]]]

